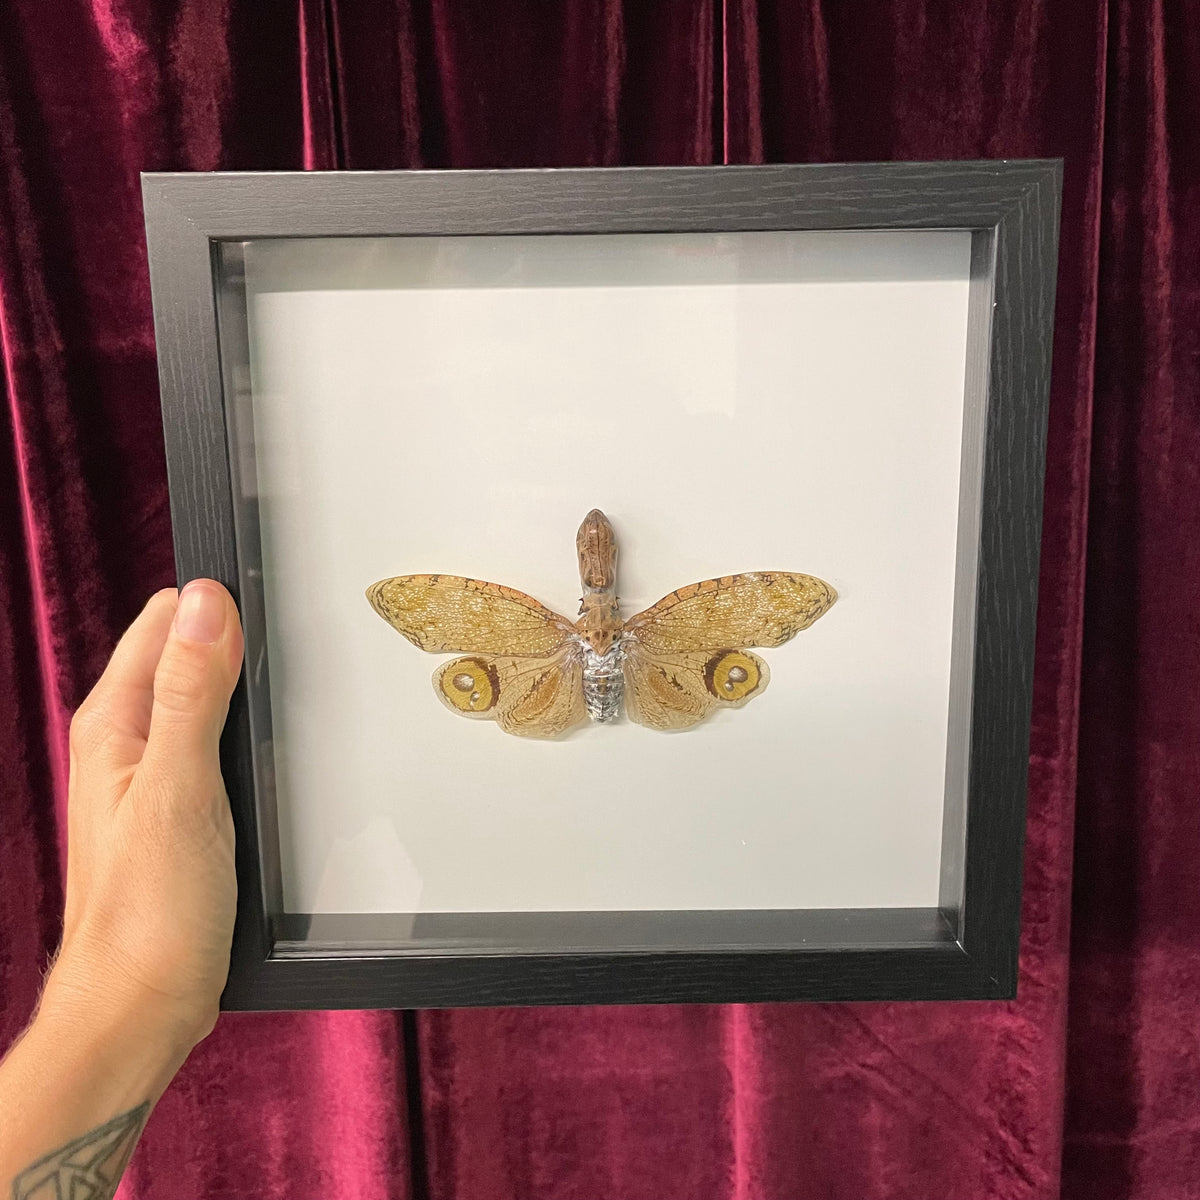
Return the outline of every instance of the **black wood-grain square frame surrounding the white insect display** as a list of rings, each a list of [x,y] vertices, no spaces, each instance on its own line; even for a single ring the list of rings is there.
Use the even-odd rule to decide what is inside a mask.
[[[222,1007],[1013,997],[1061,180],[1057,160],[144,174],[179,582],[220,580],[246,630],[222,738],[239,886]],[[868,229],[971,234],[937,906],[286,913],[257,502],[232,464],[244,244]]]

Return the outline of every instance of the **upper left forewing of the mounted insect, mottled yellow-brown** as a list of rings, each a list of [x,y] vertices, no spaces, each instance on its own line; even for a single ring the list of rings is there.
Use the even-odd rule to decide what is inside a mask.
[[[470,650],[547,658],[575,628],[532,596],[458,575],[400,575],[367,588],[367,600],[414,646],[434,654]]]

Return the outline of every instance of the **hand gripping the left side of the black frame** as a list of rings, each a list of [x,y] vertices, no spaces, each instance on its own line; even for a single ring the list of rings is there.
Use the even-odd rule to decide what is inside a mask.
[[[234,830],[218,742],[241,670],[229,593],[151,598],[71,722],[62,946],[43,1006],[137,1013],[186,1055],[229,970]]]

